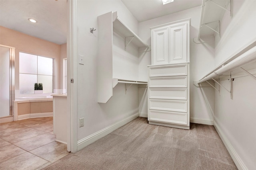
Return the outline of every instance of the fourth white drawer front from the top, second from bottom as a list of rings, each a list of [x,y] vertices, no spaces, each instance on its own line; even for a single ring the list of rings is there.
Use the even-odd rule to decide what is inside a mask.
[[[150,99],[149,109],[187,112],[187,101]]]

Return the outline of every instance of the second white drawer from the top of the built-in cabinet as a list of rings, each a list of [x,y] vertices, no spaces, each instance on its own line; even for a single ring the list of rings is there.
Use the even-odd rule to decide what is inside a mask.
[[[187,87],[187,77],[150,78],[149,87]]]

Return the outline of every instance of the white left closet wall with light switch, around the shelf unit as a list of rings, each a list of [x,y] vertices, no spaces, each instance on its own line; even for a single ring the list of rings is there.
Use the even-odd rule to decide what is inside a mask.
[[[118,84],[106,104],[97,102],[97,17],[118,11],[118,17],[135,33],[138,21],[120,0],[78,0],[78,55],[84,55],[84,65],[78,64],[78,119],[84,117],[84,127],[78,127],[78,141],[122,119],[138,113],[138,85],[125,94],[125,84]],[[90,33],[90,28],[96,31]]]

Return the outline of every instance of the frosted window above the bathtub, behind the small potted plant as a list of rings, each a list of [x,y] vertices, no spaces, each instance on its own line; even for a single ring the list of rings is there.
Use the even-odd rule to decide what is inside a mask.
[[[42,83],[44,93],[52,93],[53,59],[20,53],[20,94],[34,94],[34,84]]]

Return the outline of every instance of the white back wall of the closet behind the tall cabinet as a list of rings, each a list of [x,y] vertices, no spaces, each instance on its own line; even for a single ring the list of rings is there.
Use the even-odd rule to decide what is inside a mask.
[[[198,36],[199,21],[200,21],[201,7],[191,8],[181,12],[176,12],[167,16],[162,16],[152,20],[139,23],[139,36],[147,44],[151,44],[151,30],[150,27],[191,18],[190,26],[190,118],[196,120],[210,120],[213,121],[212,112],[214,111],[214,90],[212,88],[197,88],[193,85],[194,80],[200,80],[208,69],[214,68],[214,44],[196,44],[193,38]],[[148,72],[145,72],[143,67],[151,64],[151,52],[147,52],[143,59],[141,59],[141,67],[139,76],[147,77]],[[144,63],[143,63],[144,62]],[[204,98],[207,96],[207,100]],[[210,97],[209,97],[210,96]],[[208,101],[208,102],[206,102]],[[208,107],[210,106],[210,107]],[[146,112],[147,107],[141,112]],[[147,113],[147,112],[146,112]]]

